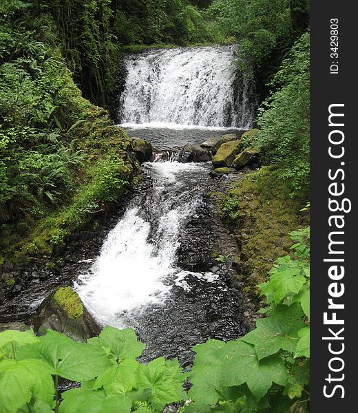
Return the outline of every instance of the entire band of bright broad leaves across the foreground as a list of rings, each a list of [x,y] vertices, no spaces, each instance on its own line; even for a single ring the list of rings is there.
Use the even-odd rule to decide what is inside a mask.
[[[189,374],[176,359],[138,363],[145,344],[133,330],[106,327],[87,343],[48,330],[0,333],[3,413],[304,412],[309,399],[309,229],[295,231],[295,257],[277,260],[260,286],[267,306],[254,330],[224,343],[208,340]],[[90,362],[89,362],[90,361]],[[59,377],[81,382],[61,394]],[[186,394],[185,379],[193,384]]]

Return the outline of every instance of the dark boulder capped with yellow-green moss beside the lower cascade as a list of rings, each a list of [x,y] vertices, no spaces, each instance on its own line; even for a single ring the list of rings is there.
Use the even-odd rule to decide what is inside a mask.
[[[39,335],[45,334],[50,328],[76,341],[86,341],[101,332],[101,328],[71,287],[59,287],[48,295],[36,315],[30,319],[30,324]]]

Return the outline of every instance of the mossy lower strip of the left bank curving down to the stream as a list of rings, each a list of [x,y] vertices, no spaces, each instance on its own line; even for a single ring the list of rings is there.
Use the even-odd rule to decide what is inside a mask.
[[[71,235],[110,213],[138,181],[139,165],[127,134],[103,109],[89,107],[63,136],[81,153],[81,163],[52,202],[30,204],[18,220],[3,223],[0,264],[61,251]]]

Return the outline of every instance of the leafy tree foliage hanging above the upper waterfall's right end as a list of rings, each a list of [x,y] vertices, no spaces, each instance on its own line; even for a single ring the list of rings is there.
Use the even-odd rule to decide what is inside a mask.
[[[309,4],[306,0],[214,0],[209,8],[223,38],[238,41],[246,75],[265,65],[271,53],[283,55],[293,40],[306,30]]]

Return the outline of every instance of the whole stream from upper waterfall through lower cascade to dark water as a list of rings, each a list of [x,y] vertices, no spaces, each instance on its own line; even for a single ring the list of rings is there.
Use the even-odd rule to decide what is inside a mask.
[[[237,58],[235,47],[222,46],[127,56],[118,112],[131,136],[152,143],[156,162],[142,165],[143,180],[125,211],[107,222],[107,235],[84,231],[93,245],[67,251],[45,282],[33,271],[30,284],[4,304],[3,321],[26,321],[56,286],[74,282],[100,324],[136,330],[147,343],[145,361],[165,355],[189,366],[192,346],[245,332],[246,301],[233,288],[231,268],[213,260],[220,245],[207,197],[211,162],[175,156],[187,143],[251,125],[255,101],[236,76]]]

